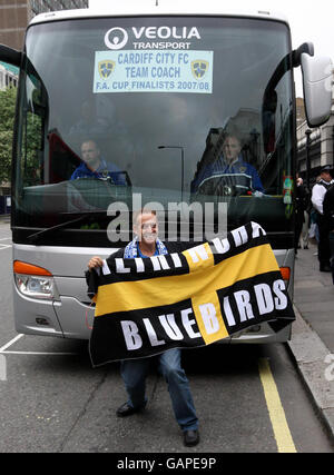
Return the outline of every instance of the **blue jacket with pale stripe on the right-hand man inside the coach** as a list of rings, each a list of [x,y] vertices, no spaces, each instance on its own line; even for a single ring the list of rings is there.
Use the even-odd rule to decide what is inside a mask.
[[[239,155],[237,160],[228,165],[224,157],[220,156],[214,164],[208,165],[205,169],[199,170],[196,179],[191,181],[191,192],[197,191],[206,181],[216,178],[224,178],[228,186],[235,186],[242,190],[264,191],[261,178],[255,168],[245,162]]]

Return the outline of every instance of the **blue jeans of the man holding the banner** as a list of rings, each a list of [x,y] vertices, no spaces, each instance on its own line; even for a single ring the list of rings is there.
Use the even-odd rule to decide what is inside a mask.
[[[198,427],[189,382],[180,365],[180,349],[169,349],[158,355],[159,369],[168,384],[171,405],[176,420],[183,431],[195,431]],[[131,407],[146,405],[145,382],[150,358],[121,362],[120,372]]]

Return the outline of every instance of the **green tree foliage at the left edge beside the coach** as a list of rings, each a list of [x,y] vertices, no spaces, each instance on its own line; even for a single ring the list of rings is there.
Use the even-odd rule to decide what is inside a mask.
[[[17,89],[0,90],[0,184],[10,181]]]

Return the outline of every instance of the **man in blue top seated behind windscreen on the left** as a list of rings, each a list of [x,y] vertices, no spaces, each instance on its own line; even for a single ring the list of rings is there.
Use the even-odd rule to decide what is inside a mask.
[[[115,185],[127,185],[125,175],[114,164],[108,164],[100,155],[97,144],[87,139],[81,144],[82,162],[73,171],[71,180],[78,178],[98,178],[110,180]]]

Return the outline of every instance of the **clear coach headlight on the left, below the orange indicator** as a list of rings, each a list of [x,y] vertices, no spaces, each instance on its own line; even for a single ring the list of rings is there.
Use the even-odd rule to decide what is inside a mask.
[[[27,276],[23,274],[16,274],[14,277],[18,290],[26,297],[51,300],[58,298],[52,277]]]

